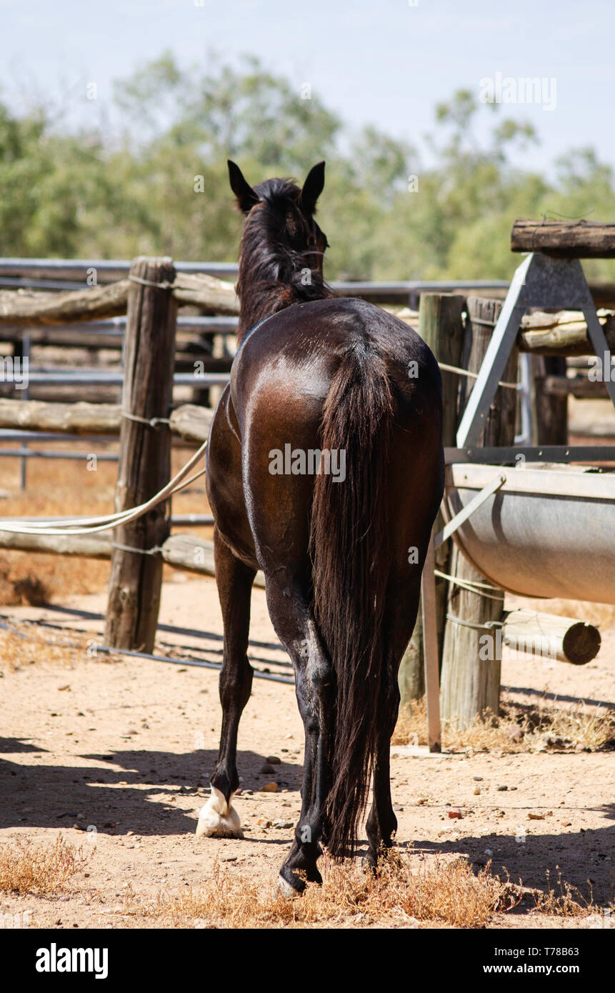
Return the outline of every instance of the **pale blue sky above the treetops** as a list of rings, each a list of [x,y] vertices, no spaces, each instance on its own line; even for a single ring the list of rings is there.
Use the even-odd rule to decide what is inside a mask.
[[[614,28],[612,0],[0,0],[0,95],[61,94],[78,114],[95,82],[104,113],[112,80],[165,49],[184,66],[251,54],[352,127],[419,147],[438,101],[493,87],[538,131],[517,165],[550,174],[559,155],[592,146],[615,167]],[[529,77],[532,102],[520,93]]]

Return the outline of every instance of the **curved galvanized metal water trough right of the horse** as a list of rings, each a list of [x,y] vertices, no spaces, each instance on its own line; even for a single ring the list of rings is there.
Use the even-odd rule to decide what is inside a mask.
[[[615,473],[454,463],[446,470],[447,518],[498,477],[502,486],[455,533],[475,568],[521,596],[615,604]]]

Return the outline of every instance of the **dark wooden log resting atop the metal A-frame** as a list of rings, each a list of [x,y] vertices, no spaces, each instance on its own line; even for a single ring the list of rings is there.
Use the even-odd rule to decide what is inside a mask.
[[[511,251],[543,251],[560,258],[615,258],[615,223],[518,218]]]

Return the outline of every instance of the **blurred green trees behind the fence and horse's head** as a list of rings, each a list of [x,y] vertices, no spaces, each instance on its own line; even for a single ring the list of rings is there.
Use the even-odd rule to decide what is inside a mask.
[[[326,159],[329,278],[506,278],[515,217],[613,215],[615,176],[592,149],[562,157],[553,182],[513,169],[511,151],[536,142],[534,129],[467,90],[435,108],[429,167],[376,127],[349,135],[317,93],[253,58],[237,69],[212,56],[204,71],[163,53],[118,81],[114,98],[119,132],[0,103],[0,255],[233,259],[229,157],[254,184],[301,181]],[[587,269],[607,278],[610,265]]]

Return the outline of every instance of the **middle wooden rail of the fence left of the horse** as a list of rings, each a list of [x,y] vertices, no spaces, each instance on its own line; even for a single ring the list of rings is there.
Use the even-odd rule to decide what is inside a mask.
[[[0,399],[0,428],[49,431],[55,434],[116,436],[123,422],[118,403],[48,403]],[[185,403],[171,413],[171,432],[184,441],[203,444],[214,411]]]

